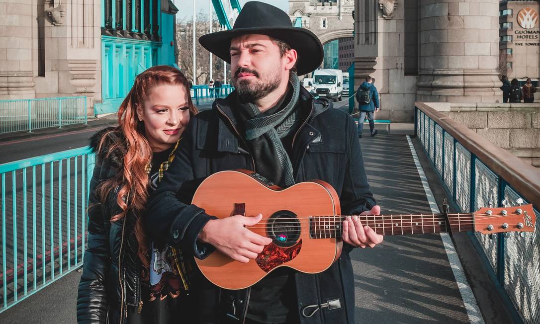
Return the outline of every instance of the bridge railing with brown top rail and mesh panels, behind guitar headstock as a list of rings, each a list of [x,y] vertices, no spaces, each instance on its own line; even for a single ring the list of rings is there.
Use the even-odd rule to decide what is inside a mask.
[[[469,236],[515,321],[540,323],[540,171],[426,103],[415,103],[415,135],[458,212],[534,206],[535,231],[524,238]]]

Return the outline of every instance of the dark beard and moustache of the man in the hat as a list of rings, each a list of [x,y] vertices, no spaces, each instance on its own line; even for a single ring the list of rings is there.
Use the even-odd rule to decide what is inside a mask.
[[[257,79],[255,80],[238,80],[238,73],[252,73]],[[234,86],[238,92],[238,96],[246,100],[246,102],[254,103],[255,101],[266,97],[269,93],[278,89],[281,79],[279,75],[272,74],[268,78],[262,78],[261,80],[267,79],[266,82],[259,82],[260,75],[257,71],[238,68],[234,73]]]

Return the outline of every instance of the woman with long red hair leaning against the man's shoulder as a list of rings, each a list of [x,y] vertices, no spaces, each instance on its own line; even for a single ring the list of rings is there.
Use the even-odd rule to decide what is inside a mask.
[[[190,323],[190,263],[148,241],[145,203],[197,113],[178,69],[154,66],[134,81],[116,127],[91,138],[88,244],[77,299],[79,323]]]

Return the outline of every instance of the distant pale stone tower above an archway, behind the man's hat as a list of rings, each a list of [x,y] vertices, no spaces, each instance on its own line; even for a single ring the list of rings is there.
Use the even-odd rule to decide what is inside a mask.
[[[332,40],[353,37],[354,0],[289,0],[293,24],[300,18],[324,45]]]

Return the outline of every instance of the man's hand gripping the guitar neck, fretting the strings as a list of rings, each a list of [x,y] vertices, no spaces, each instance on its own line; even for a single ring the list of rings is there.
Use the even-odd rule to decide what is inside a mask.
[[[375,205],[370,211],[361,213],[361,215],[379,215],[381,213],[381,206]],[[358,216],[347,216],[343,221],[343,242],[352,246],[360,246],[365,248],[366,246],[374,247],[380,244],[383,240],[383,236],[375,233],[373,228],[362,225],[362,222]]]

